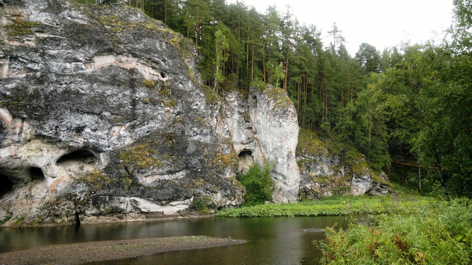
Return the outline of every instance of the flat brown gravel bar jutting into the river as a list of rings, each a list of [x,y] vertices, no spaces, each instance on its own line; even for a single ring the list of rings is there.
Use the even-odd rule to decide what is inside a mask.
[[[140,238],[48,245],[0,254],[0,264],[83,264],[152,255],[161,252],[245,243],[245,240],[204,236]]]

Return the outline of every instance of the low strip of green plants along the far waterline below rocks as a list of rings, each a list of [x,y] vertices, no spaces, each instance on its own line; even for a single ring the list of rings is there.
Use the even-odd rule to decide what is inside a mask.
[[[429,197],[409,196],[396,197],[385,195],[340,196],[320,201],[308,201],[286,204],[264,204],[219,211],[216,216],[222,217],[274,217],[274,216],[317,216],[317,215],[351,215],[408,212],[413,206],[427,207],[436,200]]]

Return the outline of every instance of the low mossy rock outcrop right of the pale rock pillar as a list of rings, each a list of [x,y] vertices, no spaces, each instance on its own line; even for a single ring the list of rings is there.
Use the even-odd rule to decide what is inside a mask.
[[[355,152],[355,158],[341,161],[341,156],[328,152],[316,133],[303,133],[305,139],[300,141],[296,155],[301,176],[299,199],[388,193],[386,175],[372,171],[361,154]],[[309,144],[306,144],[307,138],[310,138]]]

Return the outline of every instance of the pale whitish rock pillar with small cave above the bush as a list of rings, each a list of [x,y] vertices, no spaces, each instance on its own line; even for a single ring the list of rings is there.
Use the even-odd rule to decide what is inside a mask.
[[[286,93],[273,88],[252,91],[247,101],[231,93],[226,102],[217,132],[231,138],[239,157],[238,172],[254,163],[262,165],[265,159],[274,160],[272,201],[295,202],[300,182],[295,160],[298,123],[295,107]]]

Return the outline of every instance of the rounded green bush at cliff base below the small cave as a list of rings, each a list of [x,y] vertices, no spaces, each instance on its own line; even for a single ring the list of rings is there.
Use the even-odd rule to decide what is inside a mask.
[[[274,161],[266,159],[264,166],[254,164],[249,167],[244,175],[236,176],[237,180],[246,189],[244,196],[246,204],[264,203],[272,199],[270,171],[274,166]]]

